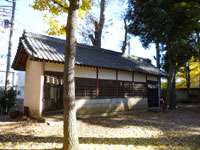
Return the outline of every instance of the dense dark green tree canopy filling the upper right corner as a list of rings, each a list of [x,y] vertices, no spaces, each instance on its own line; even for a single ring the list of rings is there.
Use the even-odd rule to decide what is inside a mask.
[[[129,0],[127,11],[129,33],[139,36],[146,48],[160,43],[164,56],[164,69],[169,61],[177,68],[198,49],[195,33],[200,31],[200,4],[198,0]]]

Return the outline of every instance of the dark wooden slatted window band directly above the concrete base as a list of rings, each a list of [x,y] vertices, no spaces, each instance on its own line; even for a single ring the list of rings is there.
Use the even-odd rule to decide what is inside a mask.
[[[75,86],[76,98],[146,96],[146,84],[131,81],[76,78]]]

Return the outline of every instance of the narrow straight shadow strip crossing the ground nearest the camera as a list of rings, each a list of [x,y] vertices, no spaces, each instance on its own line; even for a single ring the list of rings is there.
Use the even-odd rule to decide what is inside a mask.
[[[79,137],[80,144],[108,144],[108,145],[141,145],[141,146],[194,146],[200,147],[200,141],[195,142],[195,140],[200,139],[200,135],[184,136],[181,137],[159,137],[159,138],[99,138],[99,137]],[[47,137],[38,137],[34,135],[15,135],[15,134],[6,134],[0,135],[1,143],[62,143],[62,137],[47,136]],[[173,141],[170,143],[170,141]]]

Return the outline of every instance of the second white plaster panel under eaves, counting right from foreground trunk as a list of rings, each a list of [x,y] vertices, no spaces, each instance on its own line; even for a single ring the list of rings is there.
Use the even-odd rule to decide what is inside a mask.
[[[116,71],[111,69],[99,69],[99,79],[116,80]]]

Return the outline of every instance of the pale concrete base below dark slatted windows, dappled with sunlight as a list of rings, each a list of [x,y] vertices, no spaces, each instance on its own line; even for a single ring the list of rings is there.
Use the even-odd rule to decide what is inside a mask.
[[[126,111],[147,110],[147,98],[109,98],[109,99],[79,99],[77,102],[78,115],[102,114],[110,115]]]

